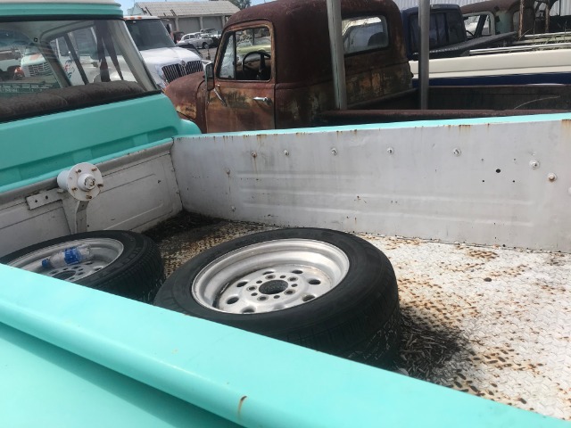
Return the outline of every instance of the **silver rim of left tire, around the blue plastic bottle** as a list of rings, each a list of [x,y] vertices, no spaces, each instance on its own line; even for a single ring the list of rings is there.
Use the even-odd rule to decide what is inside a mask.
[[[54,252],[65,250],[79,244],[86,243],[90,245],[93,257],[86,261],[79,262],[74,265],[68,265],[62,268],[44,268],[42,260],[48,258]],[[88,238],[75,241],[66,241],[65,243],[57,243],[49,247],[29,252],[28,254],[14,259],[8,263],[8,266],[21,268],[36,272],[44,276],[52,276],[63,281],[75,283],[82,278],[91,276],[101,269],[108,267],[123,252],[123,244],[116,239],[111,238]]]

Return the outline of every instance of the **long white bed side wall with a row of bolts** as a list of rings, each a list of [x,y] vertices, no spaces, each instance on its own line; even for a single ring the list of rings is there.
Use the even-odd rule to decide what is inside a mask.
[[[567,120],[194,136],[172,149],[186,210],[571,251]]]

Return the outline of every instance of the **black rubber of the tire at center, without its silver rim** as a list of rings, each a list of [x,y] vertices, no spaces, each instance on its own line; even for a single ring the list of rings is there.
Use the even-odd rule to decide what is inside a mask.
[[[347,275],[318,299],[275,312],[229,314],[192,297],[194,277],[215,259],[253,243],[288,238],[335,245],[349,258]],[[375,366],[392,366],[400,342],[399,296],[390,261],[367,241],[328,229],[261,232],[203,251],[167,278],[154,304]]]

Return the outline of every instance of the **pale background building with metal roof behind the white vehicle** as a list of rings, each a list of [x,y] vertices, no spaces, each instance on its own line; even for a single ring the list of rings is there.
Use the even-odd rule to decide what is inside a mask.
[[[234,4],[226,0],[136,2],[128,13],[131,15],[159,16],[163,21],[169,21],[172,31],[194,33],[201,29],[222,29],[228,18],[239,10]]]

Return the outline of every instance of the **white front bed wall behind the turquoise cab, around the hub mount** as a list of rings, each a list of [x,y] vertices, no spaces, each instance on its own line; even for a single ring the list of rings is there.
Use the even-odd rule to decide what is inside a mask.
[[[103,191],[87,205],[87,230],[142,231],[182,210],[170,145],[97,164]],[[56,188],[52,179],[0,195],[0,256],[70,234],[62,204],[67,193]],[[30,195],[37,197],[27,201]]]

